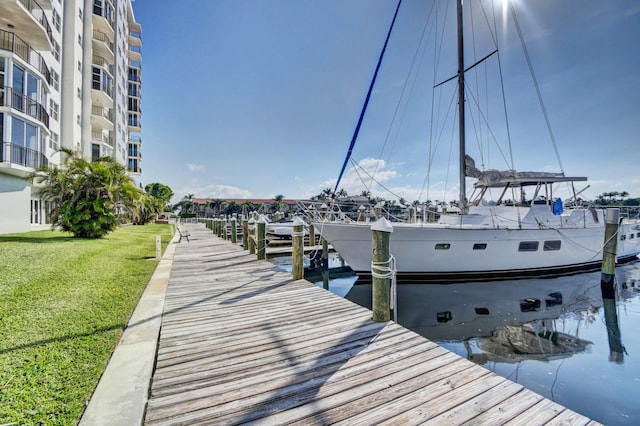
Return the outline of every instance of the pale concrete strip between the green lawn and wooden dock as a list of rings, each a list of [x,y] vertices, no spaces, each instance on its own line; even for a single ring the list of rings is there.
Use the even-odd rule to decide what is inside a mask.
[[[167,245],[82,415],[80,425],[142,424],[178,238],[176,232]]]

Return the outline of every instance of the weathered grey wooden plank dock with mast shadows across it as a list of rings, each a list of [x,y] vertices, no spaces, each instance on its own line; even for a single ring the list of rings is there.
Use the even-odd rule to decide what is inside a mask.
[[[147,425],[597,424],[185,227]]]

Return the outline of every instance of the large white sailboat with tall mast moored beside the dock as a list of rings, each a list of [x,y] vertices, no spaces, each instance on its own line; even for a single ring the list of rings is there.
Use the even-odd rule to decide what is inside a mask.
[[[397,278],[477,281],[550,277],[598,268],[604,245],[604,210],[563,205],[555,192],[557,186],[569,185],[573,204],[577,204],[579,192],[574,184],[586,181],[586,177],[565,176],[564,172],[478,170],[466,154],[462,0],[457,0],[457,12],[458,73],[453,78],[457,77],[458,83],[460,214],[442,214],[434,222],[423,218],[422,222],[392,223],[390,251]],[[476,179],[475,195],[469,199],[467,177]],[[526,201],[525,189],[533,193]],[[500,197],[494,203],[486,203],[485,196],[496,190]],[[522,193],[510,197],[515,191]],[[316,220],[314,227],[358,275],[371,276],[371,223],[338,215],[337,220]],[[623,220],[617,238],[618,261],[637,260],[640,221]]]

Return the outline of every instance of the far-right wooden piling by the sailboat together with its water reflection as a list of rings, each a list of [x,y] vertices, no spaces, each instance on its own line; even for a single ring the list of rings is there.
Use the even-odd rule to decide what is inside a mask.
[[[615,291],[619,218],[619,209],[607,209],[602,253],[602,274],[600,278],[604,318],[609,338],[609,361],[616,363],[624,362],[624,346],[622,346],[620,327],[618,326]]]

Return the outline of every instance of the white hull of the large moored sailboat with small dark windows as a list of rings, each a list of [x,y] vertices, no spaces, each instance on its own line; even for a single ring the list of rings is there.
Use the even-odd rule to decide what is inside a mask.
[[[526,221],[522,221],[522,227],[498,229],[483,224],[394,223],[390,251],[399,278],[428,281],[555,276],[588,270],[602,262],[604,217],[600,212],[595,221],[587,216],[590,212],[581,214],[579,227],[577,223],[564,227],[562,217],[557,217],[557,227],[548,228],[541,228],[540,221],[536,228],[525,228],[522,224]],[[354,271],[370,274],[370,223],[322,222],[314,226]],[[620,260],[635,259],[640,252],[638,228],[638,223],[620,226]]]

